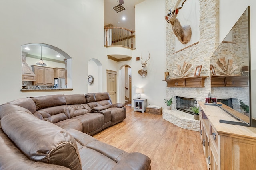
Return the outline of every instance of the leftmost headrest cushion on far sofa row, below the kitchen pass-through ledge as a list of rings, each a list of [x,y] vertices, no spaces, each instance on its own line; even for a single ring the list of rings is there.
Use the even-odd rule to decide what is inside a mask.
[[[30,97],[36,104],[36,110],[67,104],[64,94]]]

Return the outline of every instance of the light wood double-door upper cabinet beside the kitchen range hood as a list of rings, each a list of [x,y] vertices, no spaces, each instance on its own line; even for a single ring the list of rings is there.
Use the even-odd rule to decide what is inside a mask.
[[[50,67],[32,65],[32,71],[36,75],[33,85],[54,85],[54,70]]]

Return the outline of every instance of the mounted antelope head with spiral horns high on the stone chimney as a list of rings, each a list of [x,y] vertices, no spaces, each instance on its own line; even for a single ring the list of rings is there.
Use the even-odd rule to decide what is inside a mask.
[[[186,0],[184,0],[184,2],[186,2]],[[170,23],[172,25],[172,30],[174,34],[182,44],[188,43],[191,39],[192,34],[190,25],[181,26],[180,21],[176,18],[179,10],[183,7],[184,2],[182,2],[181,6],[176,8],[176,10],[174,10],[173,12],[170,9],[170,12],[167,14],[167,16],[165,16],[165,20],[167,21],[167,23]]]

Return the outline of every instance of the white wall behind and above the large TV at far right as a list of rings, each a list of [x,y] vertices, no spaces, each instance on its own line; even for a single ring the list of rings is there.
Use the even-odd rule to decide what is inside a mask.
[[[250,41],[251,41],[251,98],[252,114],[256,117],[256,1],[255,0],[220,0],[220,42],[250,6]]]

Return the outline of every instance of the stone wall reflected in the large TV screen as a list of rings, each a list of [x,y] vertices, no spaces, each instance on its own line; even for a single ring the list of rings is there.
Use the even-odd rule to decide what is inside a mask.
[[[234,25],[232,38],[232,43],[221,43],[211,57],[211,64],[215,67],[215,72],[217,75],[220,75],[221,72],[219,71],[219,68],[216,67],[215,63],[220,57],[225,57],[226,62],[228,62],[228,59],[233,59],[233,65],[239,66],[231,74],[232,76],[242,76],[241,66],[249,65],[248,15],[245,13]],[[242,102],[247,105],[250,104],[250,99],[248,98],[249,87],[214,87],[211,89],[211,94],[212,97],[218,96],[218,99],[233,98],[233,107],[237,111],[243,111],[240,108],[239,100],[242,100]]]

